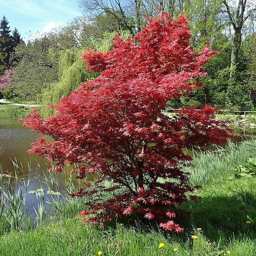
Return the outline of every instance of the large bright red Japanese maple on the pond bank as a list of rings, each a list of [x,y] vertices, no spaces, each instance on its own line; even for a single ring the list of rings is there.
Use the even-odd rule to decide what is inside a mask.
[[[185,108],[172,118],[163,113],[167,101],[201,86],[194,79],[207,75],[203,65],[216,54],[209,45],[194,52],[190,37],[185,16],[170,21],[162,13],[133,39],[116,36],[106,53],[88,49],[82,55],[87,69],[100,76],[62,98],[53,116],[27,115],[24,126],[54,139],[39,138],[30,153],[55,162],[56,172],[76,163],[72,172],[79,179],[99,174],[72,194],[88,198],[80,213],[85,222],[104,225],[136,215],[183,231],[176,206],[195,198],[183,171],[192,159],[183,149],[232,137],[209,106]]]

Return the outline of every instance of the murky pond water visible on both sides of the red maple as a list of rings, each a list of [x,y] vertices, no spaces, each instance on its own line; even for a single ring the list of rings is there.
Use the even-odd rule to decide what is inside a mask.
[[[233,128],[235,129],[235,134],[241,135],[242,138],[256,135],[256,128]],[[36,191],[37,189],[44,188],[46,192],[47,187],[43,183],[45,181],[43,172],[47,174],[47,166],[50,167],[50,164],[47,159],[43,159],[37,155],[27,154],[27,150],[31,148],[30,144],[35,142],[38,137],[40,137],[39,134],[30,132],[28,128],[23,127],[15,119],[0,120],[0,162],[2,173],[13,175],[15,167],[12,161],[15,162],[15,159],[17,159],[18,166],[23,170],[20,170],[19,174],[21,178],[20,184],[24,181],[26,183],[30,179],[27,191]],[[30,167],[28,167],[28,162],[30,163]],[[60,184],[60,191],[66,193],[65,185],[70,177],[68,170],[62,174],[57,174],[55,177]],[[75,177],[72,178],[72,181],[75,186],[78,185],[78,180]],[[12,182],[12,179],[10,179],[10,182]],[[16,189],[18,189],[17,185]],[[50,197],[51,195],[45,193],[45,197],[47,196]],[[28,208],[33,209],[33,202],[35,201],[36,193],[27,193]]]

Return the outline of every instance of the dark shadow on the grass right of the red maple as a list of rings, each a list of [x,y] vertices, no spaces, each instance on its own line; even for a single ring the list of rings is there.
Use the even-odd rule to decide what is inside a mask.
[[[187,230],[197,230],[211,242],[234,238],[256,239],[256,223],[249,221],[247,215],[256,219],[256,195],[242,190],[234,191],[232,196],[212,195],[183,206],[191,212],[189,222],[183,223]]]

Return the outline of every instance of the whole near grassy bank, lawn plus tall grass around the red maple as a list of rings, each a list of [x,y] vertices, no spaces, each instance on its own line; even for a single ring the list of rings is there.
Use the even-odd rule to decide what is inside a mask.
[[[197,156],[191,182],[203,185],[196,192],[202,200],[182,206],[191,212],[190,221],[182,221],[183,234],[140,222],[105,229],[88,226],[76,214],[84,199],[75,198],[57,206],[55,215],[36,230],[3,232],[0,255],[256,255],[256,225],[246,223],[247,216],[256,219],[256,178],[237,178],[234,172],[255,155],[256,140],[250,140]],[[0,222],[4,226],[5,220]],[[160,243],[165,246],[159,248]]]

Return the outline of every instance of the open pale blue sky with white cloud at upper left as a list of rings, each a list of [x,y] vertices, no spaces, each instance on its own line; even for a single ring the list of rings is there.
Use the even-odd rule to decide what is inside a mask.
[[[5,16],[11,30],[22,38],[49,32],[81,15],[77,0],[0,0],[0,19]]]

